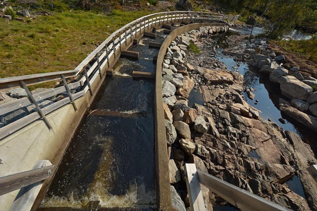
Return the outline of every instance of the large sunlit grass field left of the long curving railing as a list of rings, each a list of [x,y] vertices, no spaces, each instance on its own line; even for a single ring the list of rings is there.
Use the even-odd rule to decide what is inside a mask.
[[[0,18],[0,78],[73,70],[113,31],[149,13],[67,11],[9,23]]]

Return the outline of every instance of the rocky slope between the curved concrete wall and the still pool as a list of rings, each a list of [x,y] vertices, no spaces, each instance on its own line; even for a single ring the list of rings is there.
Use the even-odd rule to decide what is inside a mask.
[[[201,27],[178,36],[163,63],[162,97],[174,207],[190,210],[184,163],[195,163],[201,171],[285,207],[316,210],[317,184],[306,171],[317,162],[310,146],[276,123],[262,121],[260,111],[244,101],[243,76],[213,58],[216,43],[210,36],[217,34],[214,31],[217,28]],[[201,55],[187,50],[190,42],[201,49]],[[195,88],[204,103],[194,103],[191,108],[189,96]],[[295,174],[307,200],[285,184]],[[227,204],[204,186],[202,191],[207,210],[214,204]]]

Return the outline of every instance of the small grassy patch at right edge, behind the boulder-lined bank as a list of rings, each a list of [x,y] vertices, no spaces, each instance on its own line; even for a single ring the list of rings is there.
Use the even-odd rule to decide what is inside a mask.
[[[317,35],[309,40],[277,40],[276,42],[286,51],[304,55],[317,64]]]

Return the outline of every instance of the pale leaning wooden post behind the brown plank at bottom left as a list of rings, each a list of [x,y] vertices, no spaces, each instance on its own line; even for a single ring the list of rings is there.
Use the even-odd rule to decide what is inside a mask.
[[[49,160],[38,160],[32,170],[52,165]],[[40,192],[44,180],[33,183],[20,189],[11,204],[9,211],[31,210],[37,194]]]

